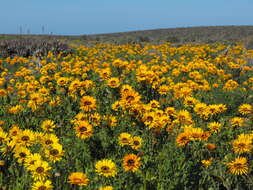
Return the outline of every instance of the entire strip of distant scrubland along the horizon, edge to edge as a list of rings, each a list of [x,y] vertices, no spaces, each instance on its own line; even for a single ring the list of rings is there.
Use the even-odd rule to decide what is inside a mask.
[[[110,43],[172,42],[172,43],[212,43],[217,41],[253,41],[253,26],[207,26],[142,30],[80,36],[57,35],[0,35],[1,39],[53,38],[76,43],[101,41]],[[252,43],[252,42],[251,42]],[[252,44],[253,46],[253,44]]]

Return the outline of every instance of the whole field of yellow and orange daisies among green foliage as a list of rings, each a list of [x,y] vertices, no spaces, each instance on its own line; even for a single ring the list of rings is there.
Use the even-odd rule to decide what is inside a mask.
[[[0,58],[0,189],[253,189],[253,50]]]

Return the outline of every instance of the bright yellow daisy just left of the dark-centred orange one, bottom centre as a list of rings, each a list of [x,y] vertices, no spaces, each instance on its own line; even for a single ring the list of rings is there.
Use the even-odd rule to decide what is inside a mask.
[[[100,160],[95,165],[96,172],[105,177],[114,177],[117,174],[116,164],[112,160]]]

